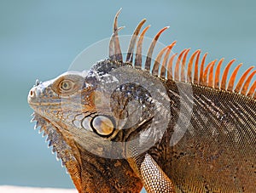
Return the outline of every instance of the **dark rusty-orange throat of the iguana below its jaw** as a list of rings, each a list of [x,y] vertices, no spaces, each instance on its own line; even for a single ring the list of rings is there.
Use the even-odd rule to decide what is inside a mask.
[[[81,192],[140,192],[141,180],[125,159],[96,156],[77,145],[80,156]]]

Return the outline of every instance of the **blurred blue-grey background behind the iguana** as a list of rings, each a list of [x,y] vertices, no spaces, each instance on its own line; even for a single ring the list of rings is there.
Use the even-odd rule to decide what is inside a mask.
[[[160,42],[177,40],[177,50],[201,48],[209,52],[207,61],[236,58],[236,64],[244,64],[241,71],[256,64],[253,0],[1,0],[0,184],[74,187],[45,139],[33,130],[26,96],[37,78],[60,75],[84,48],[109,37],[119,8],[119,26],[125,26],[120,35],[130,35],[147,18],[152,25],[147,36],[170,26]]]

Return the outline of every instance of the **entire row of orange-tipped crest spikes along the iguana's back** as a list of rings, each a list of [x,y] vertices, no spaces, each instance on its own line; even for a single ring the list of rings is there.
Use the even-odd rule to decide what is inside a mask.
[[[120,12],[118,12],[114,18],[113,35],[109,43],[109,58],[111,60],[117,60],[123,63],[122,51],[120,49],[119,37],[118,37],[118,31],[122,29],[122,27],[118,28],[117,26],[117,19],[118,19],[119,13]],[[183,49],[183,51],[179,54],[177,53],[172,54],[170,59],[168,59],[172,52],[172,48],[177,43],[176,41],[174,41],[173,43],[166,46],[166,48],[163,48],[160,51],[160,53],[157,55],[156,59],[154,60],[154,65],[151,65],[154,46],[158,41],[161,33],[163,31],[166,31],[166,29],[169,28],[168,26],[161,29],[155,35],[153,42],[148,48],[147,59],[145,61],[144,69],[143,69],[143,60],[142,60],[143,37],[146,31],[148,31],[149,26],[144,28],[140,36],[138,36],[138,34],[143,24],[145,23],[145,21],[146,20],[144,19],[138,24],[136,30],[133,33],[133,36],[131,37],[131,43],[127,50],[127,57],[126,57],[125,63],[134,64],[134,67],[136,69],[140,69],[148,72],[150,71],[150,73],[153,76],[157,76],[165,80],[172,80],[175,82],[191,82],[201,86],[207,86],[209,88],[216,88],[216,89],[221,89],[221,90],[229,91],[236,94],[242,94],[253,99],[256,98],[256,95],[254,92],[256,88],[256,82],[254,81],[252,86],[249,88],[250,82],[252,81],[253,76],[256,73],[256,70],[251,72],[253,70],[253,66],[249,67],[247,71],[245,71],[242,74],[242,76],[240,77],[239,81],[236,84],[236,87],[234,87],[237,72],[239,71],[242,64],[237,65],[235,70],[231,73],[230,80],[228,82],[228,73],[230,71],[230,66],[236,61],[235,59],[230,60],[230,62],[225,66],[224,72],[222,74],[222,78],[220,78],[220,68],[224,62],[224,59],[221,59],[219,61],[213,60],[209,62],[205,67],[207,53],[203,55],[200,62],[200,54],[201,54],[200,49],[196,50],[188,60],[187,58],[188,58],[190,48]],[[137,41],[137,37],[139,38],[138,41]],[[136,51],[135,61],[133,62],[133,54],[134,54],[133,51],[136,45],[136,41],[137,41],[137,51]],[[177,57],[177,60],[175,62],[176,57]],[[160,61],[162,58],[163,60]],[[193,68],[193,65],[194,65],[194,68]],[[214,71],[215,65],[216,65],[216,68]]]

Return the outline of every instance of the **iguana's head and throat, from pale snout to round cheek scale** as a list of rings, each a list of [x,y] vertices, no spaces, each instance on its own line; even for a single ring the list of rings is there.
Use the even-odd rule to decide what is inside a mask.
[[[102,62],[114,66],[109,60]],[[104,106],[108,93],[100,95],[103,91],[98,91],[98,84],[91,72],[67,72],[38,83],[28,96],[37,127],[48,135],[49,145],[79,192],[139,191],[142,184],[137,175],[124,159],[118,159],[122,158],[122,147],[109,143],[120,122]]]

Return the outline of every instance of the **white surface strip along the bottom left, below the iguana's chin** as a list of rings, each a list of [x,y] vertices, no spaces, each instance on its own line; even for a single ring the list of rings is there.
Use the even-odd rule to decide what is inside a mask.
[[[1,193],[78,193],[74,189],[55,189],[55,188],[32,188],[21,186],[0,185]]]

